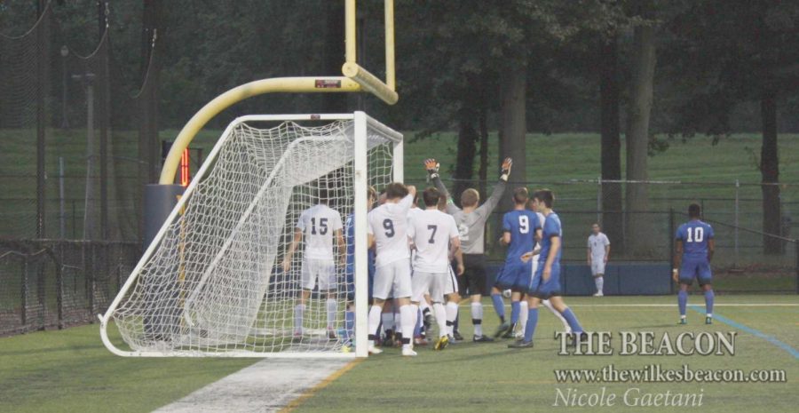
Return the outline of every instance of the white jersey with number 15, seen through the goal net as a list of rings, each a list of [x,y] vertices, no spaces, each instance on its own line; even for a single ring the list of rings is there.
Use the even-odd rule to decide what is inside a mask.
[[[297,228],[305,238],[305,258],[333,259],[333,234],[342,229],[338,211],[320,203],[300,214]]]

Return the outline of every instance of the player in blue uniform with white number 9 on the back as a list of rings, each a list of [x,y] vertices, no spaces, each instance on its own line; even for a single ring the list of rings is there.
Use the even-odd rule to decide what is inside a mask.
[[[502,217],[502,245],[508,246],[508,255],[502,271],[491,289],[494,309],[504,316],[502,290],[510,290],[510,322],[502,322],[496,330],[494,338],[512,338],[516,329],[518,314],[521,309],[519,301],[522,294],[530,286],[533,278],[532,260],[522,261],[521,256],[534,250],[536,239],[541,238],[541,223],[538,215],[526,209],[527,188],[519,187],[513,191],[513,210]]]

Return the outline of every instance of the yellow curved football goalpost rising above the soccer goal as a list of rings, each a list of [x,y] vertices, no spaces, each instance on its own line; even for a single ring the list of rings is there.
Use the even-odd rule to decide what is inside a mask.
[[[275,77],[245,83],[225,91],[200,109],[178,133],[169,154],[163,163],[160,185],[170,185],[180,164],[180,156],[194,136],[211,118],[236,102],[265,93],[330,93],[367,91],[383,99],[385,103],[397,103],[394,79],[394,0],[384,0],[385,9],[385,82],[372,75],[358,64],[356,55],[356,0],[344,0],[344,40],[346,58],[342,67],[343,76]]]

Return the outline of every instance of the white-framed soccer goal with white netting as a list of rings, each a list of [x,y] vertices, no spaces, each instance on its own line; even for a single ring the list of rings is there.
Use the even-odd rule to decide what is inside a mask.
[[[363,112],[236,119],[101,317],[104,344],[123,356],[366,356],[368,187],[401,179],[402,135]],[[334,282],[297,317],[304,242],[288,271],[283,260],[300,214],[320,203],[345,223],[350,265],[334,244]],[[109,340],[111,326],[130,348]]]

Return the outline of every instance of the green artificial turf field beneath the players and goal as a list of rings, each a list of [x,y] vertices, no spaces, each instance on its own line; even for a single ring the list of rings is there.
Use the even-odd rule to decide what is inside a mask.
[[[702,323],[703,299],[692,295],[689,324],[676,325],[676,299],[661,297],[568,297],[586,330],[613,332],[620,350],[619,331],[737,331],[736,354],[692,356],[558,356],[552,333],[559,322],[542,311],[533,349],[512,350],[508,341],[494,344],[464,342],[442,352],[421,348],[413,359],[399,350],[358,362],[318,389],[293,411],[591,411],[702,412],[795,411],[799,403],[799,296],[718,295],[712,326]],[[497,320],[486,300],[485,329]],[[468,306],[461,307],[462,332],[471,335]],[[114,330],[114,329],[110,329]],[[119,338],[113,338],[119,341]],[[151,411],[241,369],[255,360],[126,359],[102,346],[98,326],[44,331],[0,338],[0,411]],[[553,369],[641,369],[658,363],[664,369],[784,369],[786,383],[556,383]],[[556,389],[566,392],[617,393],[613,407],[551,407]],[[701,393],[701,407],[641,408],[625,406],[629,388],[643,393]]]

